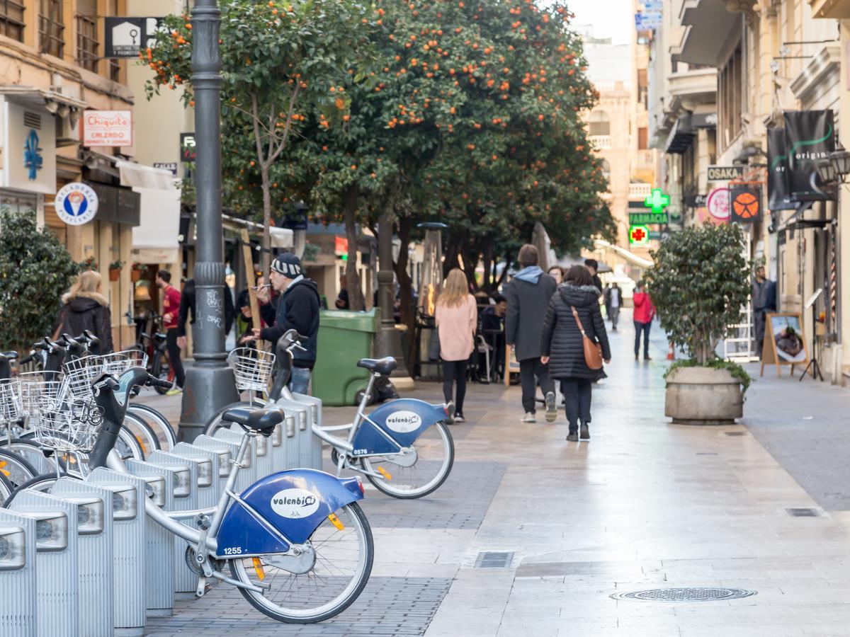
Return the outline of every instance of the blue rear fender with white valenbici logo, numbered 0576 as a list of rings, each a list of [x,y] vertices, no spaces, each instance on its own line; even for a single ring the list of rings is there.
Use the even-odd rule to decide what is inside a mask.
[[[399,447],[410,447],[422,431],[445,417],[443,405],[432,405],[416,398],[398,398],[384,403],[360,425],[352,441],[354,455],[392,454],[399,451]]]

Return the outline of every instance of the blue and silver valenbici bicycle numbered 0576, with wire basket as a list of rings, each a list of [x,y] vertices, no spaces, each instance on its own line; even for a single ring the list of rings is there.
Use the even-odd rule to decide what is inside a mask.
[[[242,360],[240,364],[245,365],[242,373],[270,369],[276,364],[268,399],[251,396],[248,401],[228,405],[207,423],[204,432],[212,436],[218,427],[225,426],[227,409],[251,408],[258,403],[270,405],[281,398],[310,399],[293,394],[286,386],[292,371],[292,351],[303,349],[299,343],[303,340],[295,330],[288,330],[277,342],[275,356],[255,351],[255,358]],[[448,405],[415,398],[398,398],[366,414],[377,380],[390,375],[396,363],[390,357],[363,358],[357,365],[368,369],[370,375],[354,420],[340,426],[313,425],[313,435],[331,445],[331,461],[337,467],[337,476],[343,469],[356,471],[379,491],[394,498],[415,499],[433,493],[445,482],[454,464],[455,445],[445,425],[454,414],[450,414]],[[257,377],[259,382],[255,386],[265,386],[263,376],[257,374]],[[344,437],[335,435],[337,432],[345,433]]]

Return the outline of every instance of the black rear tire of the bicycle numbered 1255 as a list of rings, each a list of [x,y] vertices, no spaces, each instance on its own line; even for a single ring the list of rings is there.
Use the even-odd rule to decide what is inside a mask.
[[[347,511],[347,513],[343,513],[343,519],[347,521],[356,521],[356,525],[359,527],[358,532],[363,534],[364,544],[364,558],[362,560],[362,566],[360,566],[360,560],[358,560],[358,567],[360,568],[360,572],[356,574],[356,582],[354,585],[348,584],[346,589],[343,590],[343,593],[337,595],[337,598],[331,600],[331,602],[336,601],[338,598],[342,597],[336,601],[336,603],[326,611],[321,611],[319,609],[324,606],[320,606],[317,609],[317,612],[314,614],[309,614],[309,612],[295,610],[295,609],[285,609],[281,606],[277,606],[273,601],[269,600],[265,595],[258,595],[254,593],[252,590],[247,589],[239,589],[239,592],[248,600],[248,603],[251,604],[254,608],[256,608],[259,612],[262,612],[266,617],[271,617],[278,622],[283,623],[317,623],[323,622],[326,619],[331,617],[336,617],[339,613],[343,612],[348,606],[351,606],[354,603],[360,593],[363,591],[366,583],[369,581],[369,576],[371,574],[372,561],[375,558],[375,543],[371,534],[371,527],[369,526],[369,521],[366,519],[363,510],[360,508],[356,502],[352,502],[348,505],[344,505],[334,511],[334,513],[342,513],[343,511]],[[338,520],[337,520],[338,521]],[[320,525],[321,528],[323,525]],[[318,531],[318,528],[316,529]],[[315,532],[314,532],[315,533]],[[313,536],[310,536],[311,538]],[[233,574],[235,579],[238,579],[244,583],[250,583],[250,577],[248,576],[245,568],[245,564],[243,559],[233,559],[229,560],[230,562],[230,572]],[[262,556],[258,558],[262,560]],[[318,564],[319,561],[317,560]],[[309,574],[309,573],[308,573]],[[297,576],[296,576],[297,577]],[[272,578],[274,580],[274,578]],[[282,588],[282,587],[281,587]],[[343,596],[344,594],[344,596]],[[328,602],[330,604],[331,602]],[[328,606],[326,604],[325,606]],[[271,606],[275,606],[279,608],[280,611],[275,611]],[[287,612],[288,610],[288,612]]]

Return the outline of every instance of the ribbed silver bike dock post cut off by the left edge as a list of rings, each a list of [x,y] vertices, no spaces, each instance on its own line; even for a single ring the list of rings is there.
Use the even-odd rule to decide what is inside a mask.
[[[0,557],[0,635],[36,637],[36,520],[0,509],[0,539],[8,546]]]

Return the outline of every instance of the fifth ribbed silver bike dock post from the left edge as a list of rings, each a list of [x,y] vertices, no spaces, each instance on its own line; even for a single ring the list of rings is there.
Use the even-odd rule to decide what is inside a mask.
[[[161,510],[174,508],[174,472],[143,460],[129,459],[125,463],[127,471],[142,478],[153,490],[151,501]],[[148,617],[171,617],[174,614],[174,557],[177,550],[176,535],[169,533],[150,516],[144,516],[145,537],[147,538],[147,559],[145,560],[144,581],[147,590]],[[180,561],[183,556],[180,555]]]

